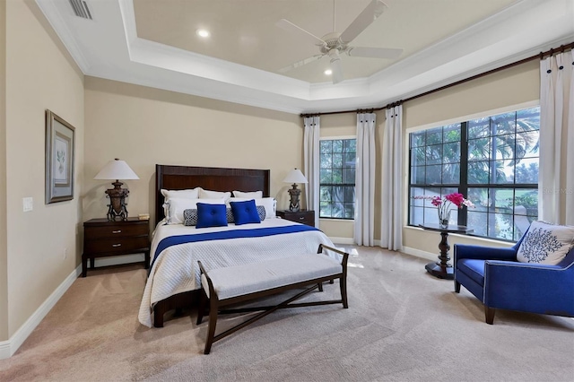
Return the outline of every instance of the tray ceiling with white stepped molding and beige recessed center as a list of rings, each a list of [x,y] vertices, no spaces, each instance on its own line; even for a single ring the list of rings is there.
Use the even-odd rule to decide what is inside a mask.
[[[287,19],[321,38],[370,0],[80,2],[92,20],[69,1],[36,1],[86,75],[290,113],[384,106],[574,40],[571,0],[385,0],[352,45],[403,53],[342,55],[344,81],[333,84],[328,56],[279,71],[319,52],[275,24]]]

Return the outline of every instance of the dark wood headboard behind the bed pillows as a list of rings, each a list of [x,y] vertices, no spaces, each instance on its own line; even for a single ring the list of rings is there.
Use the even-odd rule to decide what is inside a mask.
[[[182,190],[202,187],[212,191],[263,191],[269,196],[271,183],[269,169],[223,169],[214,167],[189,167],[155,165],[155,223],[163,214],[161,189]]]

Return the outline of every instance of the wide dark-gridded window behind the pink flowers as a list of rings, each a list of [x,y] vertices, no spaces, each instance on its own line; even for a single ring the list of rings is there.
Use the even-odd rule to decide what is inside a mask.
[[[409,224],[439,220],[413,196],[459,192],[476,207],[452,211],[451,223],[519,239],[538,214],[539,128],[536,107],[410,134]]]

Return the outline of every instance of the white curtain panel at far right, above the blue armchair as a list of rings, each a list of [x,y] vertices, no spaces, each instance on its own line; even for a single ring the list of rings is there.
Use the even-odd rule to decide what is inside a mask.
[[[574,225],[574,53],[540,61],[538,217]]]

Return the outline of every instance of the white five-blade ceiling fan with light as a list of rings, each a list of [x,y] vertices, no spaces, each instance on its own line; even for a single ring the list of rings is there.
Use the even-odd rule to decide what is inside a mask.
[[[361,34],[363,30],[367,29],[372,22],[377,20],[378,16],[385,12],[387,8],[387,4],[383,3],[381,0],[372,0],[370,4],[367,5],[367,7],[355,18],[355,20],[351,22],[351,25],[349,25],[342,33],[339,33],[335,30],[335,0],[333,0],[333,32],[327,33],[320,39],[308,30],[304,30],[288,20],[280,20],[276,23],[278,27],[293,34],[297,34],[317,45],[321,53],[300,60],[289,66],[285,66],[282,69],[279,69],[279,72],[285,73],[296,67],[316,61],[323,56],[329,56],[333,83],[338,83],[344,80],[343,68],[341,67],[341,53],[344,53],[347,56],[370,58],[396,58],[400,56],[401,53],[403,53],[403,49],[365,48],[352,47],[349,45],[353,39]]]

